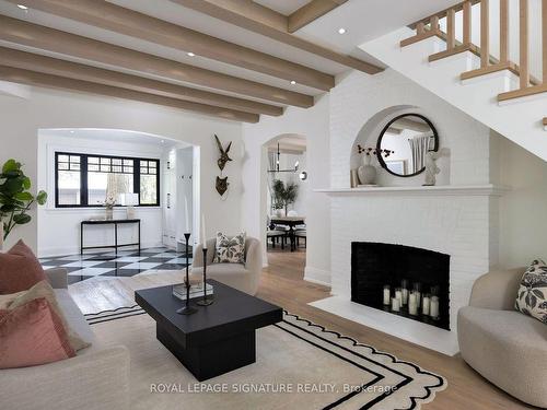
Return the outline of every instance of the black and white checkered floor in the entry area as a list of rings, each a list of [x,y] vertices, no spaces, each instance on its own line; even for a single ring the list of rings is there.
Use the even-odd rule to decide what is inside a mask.
[[[191,265],[191,255],[189,257]],[[181,270],[186,267],[184,253],[168,248],[105,251],[83,256],[40,258],[44,269],[62,267],[68,270],[69,284],[94,277],[132,277],[158,270]]]

